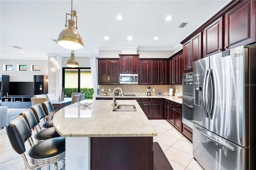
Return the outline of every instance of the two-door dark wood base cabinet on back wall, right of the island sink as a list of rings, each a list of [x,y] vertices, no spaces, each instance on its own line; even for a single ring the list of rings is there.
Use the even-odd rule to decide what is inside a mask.
[[[164,119],[162,99],[142,98],[140,106],[148,119]]]

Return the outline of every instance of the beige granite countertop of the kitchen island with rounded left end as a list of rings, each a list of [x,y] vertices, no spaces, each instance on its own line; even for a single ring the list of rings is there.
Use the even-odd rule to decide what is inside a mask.
[[[92,101],[84,100],[80,104],[85,102]],[[66,137],[157,136],[136,100],[116,102],[117,105],[135,105],[137,111],[114,112],[112,100],[94,100],[86,109],[78,102],[60,109],[54,115],[54,128]]]

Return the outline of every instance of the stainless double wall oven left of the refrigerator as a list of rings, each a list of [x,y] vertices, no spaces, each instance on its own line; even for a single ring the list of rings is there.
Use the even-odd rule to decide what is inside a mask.
[[[182,74],[182,123],[193,128],[193,72]]]

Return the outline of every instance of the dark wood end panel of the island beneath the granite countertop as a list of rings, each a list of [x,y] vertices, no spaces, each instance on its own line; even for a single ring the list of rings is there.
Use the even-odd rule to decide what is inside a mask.
[[[152,170],[153,137],[91,137],[91,170]]]

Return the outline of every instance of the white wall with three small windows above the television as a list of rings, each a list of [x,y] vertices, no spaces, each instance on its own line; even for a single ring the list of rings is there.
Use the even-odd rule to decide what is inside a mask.
[[[4,71],[4,65],[13,65],[13,71]],[[17,71],[17,65],[27,65],[27,71]],[[40,65],[40,71],[31,71],[31,65]],[[1,59],[0,74],[9,75],[10,81],[34,81],[34,75],[48,75],[48,61],[28,59]]]

